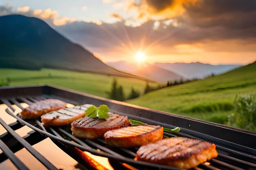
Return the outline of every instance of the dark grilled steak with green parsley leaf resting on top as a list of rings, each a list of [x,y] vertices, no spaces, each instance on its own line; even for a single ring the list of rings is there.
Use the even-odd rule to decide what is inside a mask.
[[[108,119],[99,119],[92,117],[83,117],[71,124],[72,135],[87,139],[96,139],[103,137],[108,130],[118,129],[129,126],[130,122],[127,116],[119,116],[110,113]]]

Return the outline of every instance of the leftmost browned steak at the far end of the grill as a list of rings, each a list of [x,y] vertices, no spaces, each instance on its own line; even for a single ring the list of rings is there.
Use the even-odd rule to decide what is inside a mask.
[[[42,100],[25,108],[20,113],[20,117],[22,119],[35,119],[37,117],[44,115],[45,113],[66,108],[66,105],[67,103],[62,102],[61,100],[58,100],[58,99]]]

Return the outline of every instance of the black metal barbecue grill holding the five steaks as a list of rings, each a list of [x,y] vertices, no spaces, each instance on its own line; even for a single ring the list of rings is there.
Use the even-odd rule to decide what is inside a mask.
[[[0,148],[3,151],[0,154],[0,163],[9,158],[19,170],[28,170],[24,163],[13,154],[22,148],[26,148],[47,169],[57,170],[49,160],[31,146],[49,137],[64,152],[85,165],[85,167],[89,167],[88,169],[95,169],[95,167],[88,166],[88,161],[82,156],[82,151],[107,157],[115,169],[128,169],[127,166],[123,166],[126,163],[134,168],[144,170],[180,170],[180,168],[135,161],[135,153],[138,148],[110,148],[106,146],[103,139],[90,141],[72,136],[70,130],[67,130],[69,126],[45,129],[40,119],[24,121],[13,114],[15,109],[12,107],[12,104],[24,109],[20,104],[22,102],[33,104],[34,102],[50,98],[60,99],[74,105],[94,104],[99,106],[100,104],[106,104],[111,112],[126,115],[129,119],[166,128],[175,128],[177,126],[181,128],[180,132],[164,132],[164,135],[168,137],[190,137],[216,144],[216,149],[219,153],[218,157],[211,159],[207,164],[201,163],[198,167],[193,168],[194,170],[199,170],[200,168],[206,170],[256,170],[256,133],[254,132],[134,106],[52,85],[0,88],[0,104],[6,104],[8,106],[5,110],[6,113],[17,119],[16,122],[8,125],[0,119],[0,124],[7,130],[6,133],[0,135]],[[14,130],[23,126],[28,126],[34,131],[22,138]]]

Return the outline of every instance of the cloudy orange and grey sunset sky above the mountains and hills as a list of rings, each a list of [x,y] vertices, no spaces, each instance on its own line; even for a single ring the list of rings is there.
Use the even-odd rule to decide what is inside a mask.
[[[1,0],[0,15],[47,22],[104,62],[256,60],[256,0]]]

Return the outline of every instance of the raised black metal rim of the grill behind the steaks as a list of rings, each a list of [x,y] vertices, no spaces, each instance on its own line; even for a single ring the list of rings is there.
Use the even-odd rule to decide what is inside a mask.
[[[239,153],[241,157],[248,157],[248,159],[254,158],[253,160],[256,161],[256,157],[250,156],[256,155],[256,146],[254,145],[253,142],[256,141],[256,133],[254,132],[231,128],[228,126],[193,119],[189,117],[183,117],[172,113],[166,113],[158,110],[143,108],[131,104],[126,104],[124,102],[105,99],[103,97],[97,97],[94,95],[89,95],[86,93],[58,86],[42,85],[0,87],[0,101],[7,104],[7,106],[9,105],[8,107],[11,110],[13,109],[10,106],[10,102],[16,105],[18,104],[16,100],[13,98],[20,97],[20,99],[24,101],[24,97],[30,97],[31,101],[34,100],[33,102],[36,102],[37,99],[35,96],[43,95],[48,95],[52,98],[61,99],[65,102],[69,102],[75,105],[86,103],[94,105],[107,104],[111,108],[110,111],[117,113],[119,115],[127,115],[131,119],[144,121],[148,124],[161,125],[166,128],[175,128],[176,126],[179,126],[181,128],[179,136],[200,138],[206,141],[210,141],[216,144],[217,149],[226,149],[231,154],[232,152],[234,152],[233,154],[238,154],[237,152],[243,152],[244,154]],[[38,98],[38,100],[40,99]],[[170,124],[172,125],[169,125],[168,122],[170,122]],[[13,126],[15,126],[15,124]],[[56,142],[58,143],[58,140],[56,140]],[[162,168],[164,167],[162,166]]]

